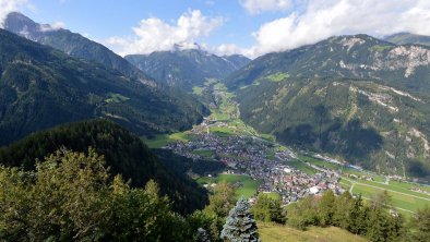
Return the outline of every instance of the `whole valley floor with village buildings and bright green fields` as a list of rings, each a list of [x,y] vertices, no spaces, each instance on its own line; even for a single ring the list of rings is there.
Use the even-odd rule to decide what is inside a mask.
[[[398,174],[377,174],[324,154],[291,149],[271,134],[256,132],[240,120],[239,108],[227,88],[208,80],[199,94],[213,95],[211,116],[192,130],[146,140],[150,147],[170,149],[194,162],[222,162],[224,170],[188,174],[211,190],[228,182],[237,195],[253,202],[259,193],[278,196],[283,205],[308,195],[349,192],[363,199],[387,191],[393,208],[407,216],[430,202],[430,187],[407,181]]]

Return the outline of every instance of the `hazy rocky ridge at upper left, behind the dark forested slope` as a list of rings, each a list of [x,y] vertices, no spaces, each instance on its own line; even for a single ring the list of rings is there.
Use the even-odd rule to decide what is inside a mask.
[[[95,61],[115,69],[128,77],[155,85],[155,82],[142,71],[130,64],[105,46],[72,33],[68,29],[53,28],[48,24],[38,24],[19,12],[9,13],[4,20],[4,29],[22,37],[53,47],[72,57]]]

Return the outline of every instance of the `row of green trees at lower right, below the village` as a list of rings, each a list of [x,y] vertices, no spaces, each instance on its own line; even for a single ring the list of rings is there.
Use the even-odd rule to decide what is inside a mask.
[[[280,201],[260,194],[252,211],[261,221],[286,222],[306,230],[308,227],[338,227],[370,241],[430,241],[430,207],[419,210],[407,220],[392,209],[386,192],[369,202],[348,192],[335,196],[330,190],[321,197],[308,196],[280,208]]]

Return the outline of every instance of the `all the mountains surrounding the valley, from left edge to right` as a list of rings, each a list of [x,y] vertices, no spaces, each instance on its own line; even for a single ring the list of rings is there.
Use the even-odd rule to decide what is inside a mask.
[[[184,92],[215,78],[235,93],[244,122],[282,143],[430,176],[427,36],[334,36],[251,61],[180,46],[121,58],[21,13],[4,27],[33,41],[0,32],[0,145],[96,117],[145,136],[189,129],[207,110]]]

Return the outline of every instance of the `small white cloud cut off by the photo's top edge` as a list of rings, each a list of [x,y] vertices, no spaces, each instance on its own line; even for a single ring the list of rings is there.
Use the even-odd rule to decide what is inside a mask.
[[[291,7],[291,0],[239,0],[239,3],[250,14],[287,10]]]

